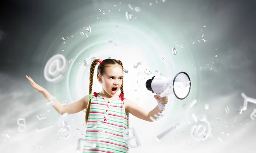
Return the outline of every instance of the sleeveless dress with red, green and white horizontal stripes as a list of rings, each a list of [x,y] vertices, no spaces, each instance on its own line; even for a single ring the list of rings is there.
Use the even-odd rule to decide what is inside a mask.
[[[128,129],[128,113],[121,98],[108,100],[94,93],[86,125],[85,139],[96,147],[84,145],[83,153],[128,153],[128,140],[123,132]],[[98,123],[97,123],[98,119]],[[128,132],[125,133],[128,137]]]

